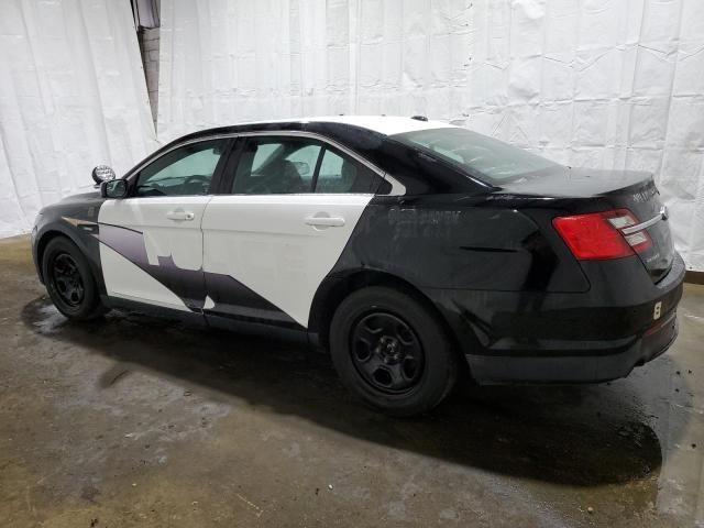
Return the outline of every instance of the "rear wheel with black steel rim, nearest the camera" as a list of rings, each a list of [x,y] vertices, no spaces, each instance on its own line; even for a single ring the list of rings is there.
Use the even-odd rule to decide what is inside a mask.
[[[392,416],[432,409],[459,372],[437,317],[414,297],[387,287],[358,290],[340,304],[330,324],[330,353],[343,384]]]

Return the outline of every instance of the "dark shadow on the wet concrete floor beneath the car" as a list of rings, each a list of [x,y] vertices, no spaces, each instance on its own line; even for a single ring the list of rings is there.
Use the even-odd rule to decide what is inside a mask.
[[[474,387],[464,382],[428,416],[394,419],[358,402],[329,358],[306,346],[139,314],[74,323],[46,298],[28,304],[22,316],[37,333],[128,369],[205,387],[209,397],[230,405],[245,400],[351,437],[506,475],[574,486],[649,481],[657,494],[652,476],[662,462],[661,447],[638,402],[645,388],[632,383]],[[122,374],[105,373],[97,383],[107,387]]]

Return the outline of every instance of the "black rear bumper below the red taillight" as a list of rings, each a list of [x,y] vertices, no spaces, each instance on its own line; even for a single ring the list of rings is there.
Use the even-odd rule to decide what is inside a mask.
[[[585,293],[426,293],[479,383],[596,383],[627,376],[672,344],[685,272],[679,255],[658,284],[636,257],[600,270]]]

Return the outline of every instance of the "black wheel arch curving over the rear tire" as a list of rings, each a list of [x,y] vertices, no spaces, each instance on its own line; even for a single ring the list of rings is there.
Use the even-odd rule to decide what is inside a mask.
[[[440,321],[448,339],[450,339],[458,353],[461,350],[457,336],[450,329],[440,310],[422,292],[408,280],[404,280],[388,273],[365,270],[348,275],[341,279],[331,280],[331,283],[332,284],[323,287],[322,290],[316,295],[310,310],[309,330],[318,334],[318,341],[322,348],[327,349],[328,346],[328,333],[330,323],[332,322],[332,316],[334,316],[338,306],[340,306],[349,295],[367,286],[385,286],[400,290],[424,305],[426,309]]]

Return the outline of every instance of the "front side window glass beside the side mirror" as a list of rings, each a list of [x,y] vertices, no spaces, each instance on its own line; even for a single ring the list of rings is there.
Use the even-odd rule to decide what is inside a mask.
[[[208,195],[227,144],[228,140],[201,141],[164,154],[142,169],[135,196]]]

